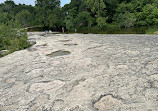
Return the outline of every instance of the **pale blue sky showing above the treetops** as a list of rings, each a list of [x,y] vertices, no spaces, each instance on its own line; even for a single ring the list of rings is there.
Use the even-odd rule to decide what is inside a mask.
[[[3,3],[6,0],[0,0],[0,3]],[[13,0],[16,4],[26,4],[26,5],[35,5],[35,0]],[[61,6],[70,3],[71,0],[61,0]]]

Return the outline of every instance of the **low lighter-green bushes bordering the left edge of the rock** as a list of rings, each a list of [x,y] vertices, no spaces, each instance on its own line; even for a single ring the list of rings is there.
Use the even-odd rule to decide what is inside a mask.
[[[27,41],[26,31],[20,29],[13,29],[10,26],[0,25],[0,51],[7,50],[7,53],[0,54],[0,56],[7,55],[17,50],[30,47]]]

